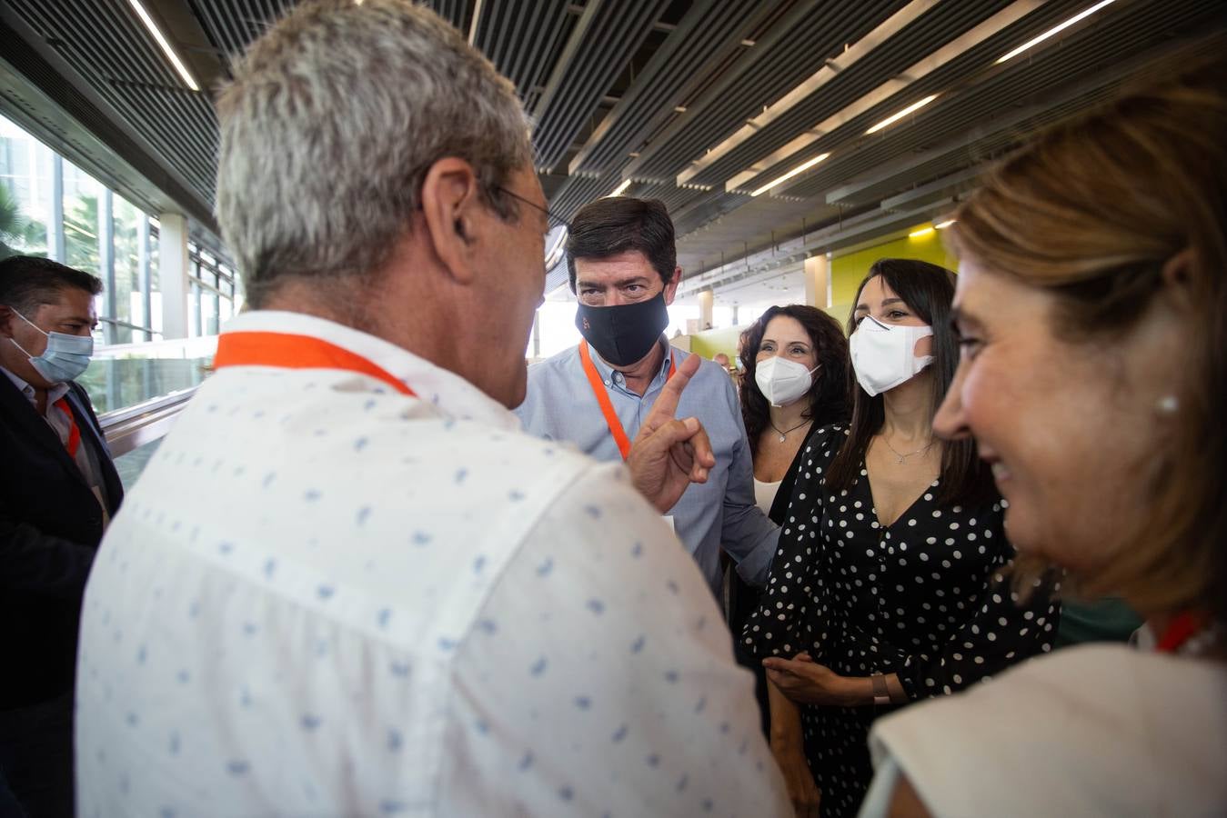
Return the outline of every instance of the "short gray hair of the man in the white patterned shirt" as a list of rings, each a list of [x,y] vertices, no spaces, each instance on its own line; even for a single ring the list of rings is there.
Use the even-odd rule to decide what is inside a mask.
[[[303,4],[233,67],[217,102],[217,222],[260,307],[290,277],[378,271],[438,159],[472,164],[487,204],[531,167],[510,82],[409,0]]]

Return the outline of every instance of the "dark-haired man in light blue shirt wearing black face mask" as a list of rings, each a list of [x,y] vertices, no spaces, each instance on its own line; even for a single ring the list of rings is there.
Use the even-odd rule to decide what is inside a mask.
[[[599,199],[575,215],[567,240],[571,288],[579,305],[578,347],[529,369],[517,410],[539,437],[569,440],[600,460],[626,457],[629,440],[687,353],[664,337],[681,269],[674,224],[659,200]],[[753,466],[728,373],[704,361],[677,407],[712,439],[715,468],[669,511],[675,531],[720,596],[720,547],[737,571],[761,585],[778,530],[755,505]]]

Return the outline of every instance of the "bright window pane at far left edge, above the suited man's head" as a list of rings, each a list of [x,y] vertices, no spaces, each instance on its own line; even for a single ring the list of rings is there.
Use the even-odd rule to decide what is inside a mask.
[[[52,150],[0,117],[0,258],[47,255]]]

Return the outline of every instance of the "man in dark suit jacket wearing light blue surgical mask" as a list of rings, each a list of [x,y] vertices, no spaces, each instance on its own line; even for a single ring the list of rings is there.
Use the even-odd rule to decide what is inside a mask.
[[[0,789],[27,814],[72,814],[81,596],[123,487],[86,391],[102,282],[0,261]]]

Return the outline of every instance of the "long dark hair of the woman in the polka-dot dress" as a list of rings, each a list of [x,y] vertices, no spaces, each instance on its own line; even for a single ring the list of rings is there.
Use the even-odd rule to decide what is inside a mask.
[[[955,273],[928,261],[917,259],[880,259],[869,269],[869,275],[856,288],[852,313],[848,315],[848,335],[856,331],[856,304],[860,293],[871,278],[881,276],[882,283],[890,287],[920,320],[933,327],[933,394],[929,415],[937,413],[937,407],[946,397],[958,368],[958,341],[950,321],[951,304],[955,300]],[[869,443],[882,429],[886,410],[882,395],[870,397],[869,392],[856,383],[855,373],[848,369],[848,388],[853,394],[852,423],[843,446],[827,468],[827,488],[842,491],[852,486],[860,475],[860,464],[869,449]],[[974,505],[991,500],[996,489],[984,464],[975,455],[972,440],[947,440],[941,455],[941,488],[937,492],[940,505]]]

